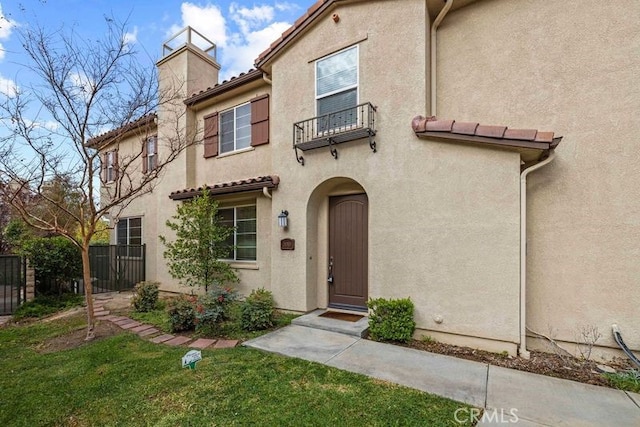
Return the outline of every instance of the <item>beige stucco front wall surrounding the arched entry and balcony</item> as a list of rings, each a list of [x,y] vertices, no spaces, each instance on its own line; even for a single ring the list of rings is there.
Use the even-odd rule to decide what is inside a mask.
[[[282,180],[273,204],[289,211],[290,227],[274,231],[272,289],[283,307],[326,306],[327,197],[362,188],[369,296],[410,296],[418,327],[449,339],[514,343],[519,157],[414,135],[411,119],[427,109],[428,21],[423,1],[338,7],[274,61],[272,155]],[[315,115],[314,61],[352,44],[359,46],[359,101],[378,107],[378,152],[353,141],[337,147],[338,160],[322,148],[305,152],[300,166],[292,125]],[[296,240],[295,251],[279,250],[283,237]]]

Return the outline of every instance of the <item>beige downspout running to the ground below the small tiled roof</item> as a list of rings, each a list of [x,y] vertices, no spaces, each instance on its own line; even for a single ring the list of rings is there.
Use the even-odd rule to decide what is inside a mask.
[[[529,359],[527,350],[527,175],[548,165],[555,159],[552,150],[549,157],[520,173],[520,357]]]

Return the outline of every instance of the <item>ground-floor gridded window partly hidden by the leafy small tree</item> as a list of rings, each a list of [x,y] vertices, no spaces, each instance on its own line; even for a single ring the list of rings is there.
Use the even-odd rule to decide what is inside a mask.
[[[220,223],[235,227],[233,235],[229,236],[227,244],[235,249],[229,252],[228,259],[234,261],[256,260],[256,205],[236,206],[218,209]]]

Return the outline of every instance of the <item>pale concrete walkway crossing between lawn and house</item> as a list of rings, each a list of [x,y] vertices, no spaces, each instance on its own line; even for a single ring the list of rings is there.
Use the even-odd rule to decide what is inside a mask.
[[[291,325],[243,345],[485,408],[479,426],[640,426],[640,395]],[[466,411],[457,414],[462,420]],[[454,420],[452,414],[452,420]],[[453,422],[455,424],[455,422]]]

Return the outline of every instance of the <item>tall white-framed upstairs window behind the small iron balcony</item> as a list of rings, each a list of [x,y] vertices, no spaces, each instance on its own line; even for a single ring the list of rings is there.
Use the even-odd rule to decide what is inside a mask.
[[[318,130],[352,125],[357,121],[356,105],[358,105],[358,46],[316,61]]]

